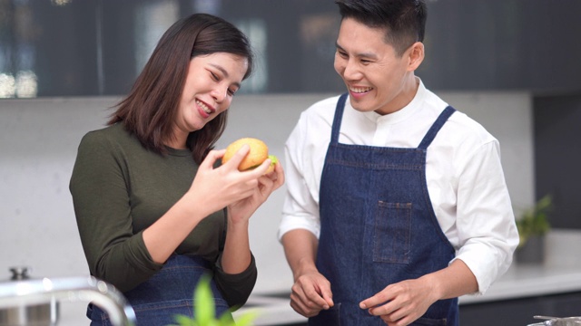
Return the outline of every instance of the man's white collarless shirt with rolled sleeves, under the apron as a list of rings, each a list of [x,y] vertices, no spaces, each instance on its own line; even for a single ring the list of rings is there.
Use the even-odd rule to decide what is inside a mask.
[[[287,194],[279,239],[293,229],[320,235],[320,176],[339,96],[313,104],[300,114],[285,146]],[[378,147],[417,148],[448,106],[423,83],[414,99],[387,115],[360,112],[348,100],[339,141]],[[484,293],[507,272],[518,244],[517,226],[500,163],[497,139],[459,111],[428,147],[428,193],[438,223]]]

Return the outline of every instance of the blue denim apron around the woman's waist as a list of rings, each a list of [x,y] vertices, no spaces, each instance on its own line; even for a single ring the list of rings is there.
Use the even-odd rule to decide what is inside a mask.
[[[192,317],[193,292],[204,273],[212,274],[212,264],[200,257],[174,254],[149,280],[124,292],[137,317],[136,326],[177,325],[174,315]],[[211,285],[216,316],[230,313],[216,284],[212,281]],[[87,317],[91,326],[112,325],[107,314],[94,304],[89,304]]]

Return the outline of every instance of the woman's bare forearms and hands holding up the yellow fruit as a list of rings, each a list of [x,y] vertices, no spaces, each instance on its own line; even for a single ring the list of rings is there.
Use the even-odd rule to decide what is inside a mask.
[[[247,262],[250,262],[248,219],[271,192],[284,183],[280,164],[277,164],[275,172],[263,176],[269,168],[270,160],[251,171],[239,171],[238,166],[249,149],[248,146],[244,146],[219,168],[214,168],[214,165],[222,158],[225,149],[212,150],[208,153],[198,168],[192,187],[168,212],[143,231],[143,241],[153,261],[165,262],[203,218],[229,206],[227,242],[235,244],[230,245],[230,248],[238,249],[234,249],[233,254],[227,255],[242,254],[236,259],[226,260],[227,262],[240,260],[242,263],[233,264],[234,267],[227,273],[248,266]],[[229,249],[228,253],[231,250]],[[224,271],[226,270],[227,268],[224,268]]]

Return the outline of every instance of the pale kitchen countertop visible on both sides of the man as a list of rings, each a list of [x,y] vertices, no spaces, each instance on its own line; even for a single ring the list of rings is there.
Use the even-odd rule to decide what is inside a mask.
[[[546,259],[543,264],[513,263],[483,295],[465,295],[459,304],[497,302],[503,300],[537,297],[566,292],[581,292],[581,232],[553,230],[547,235]],[[305,322],[289,304],[290,289],[253,293],[247,304],[235,317],[255,309],[259,315],[255,325],[284,325]],[[531,312],[533,313],[533,312]]]

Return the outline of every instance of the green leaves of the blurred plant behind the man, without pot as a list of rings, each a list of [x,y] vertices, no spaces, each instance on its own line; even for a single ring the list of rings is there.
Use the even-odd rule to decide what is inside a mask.
[[[527,243],[529,237],[533,235],[546,235],[551,225],[548,222],[548,215],[553,208],[553,198],[550,195],[540,198],[535,206],[523,212],[517,220],[518,235],[520,237],[519,247]]]

